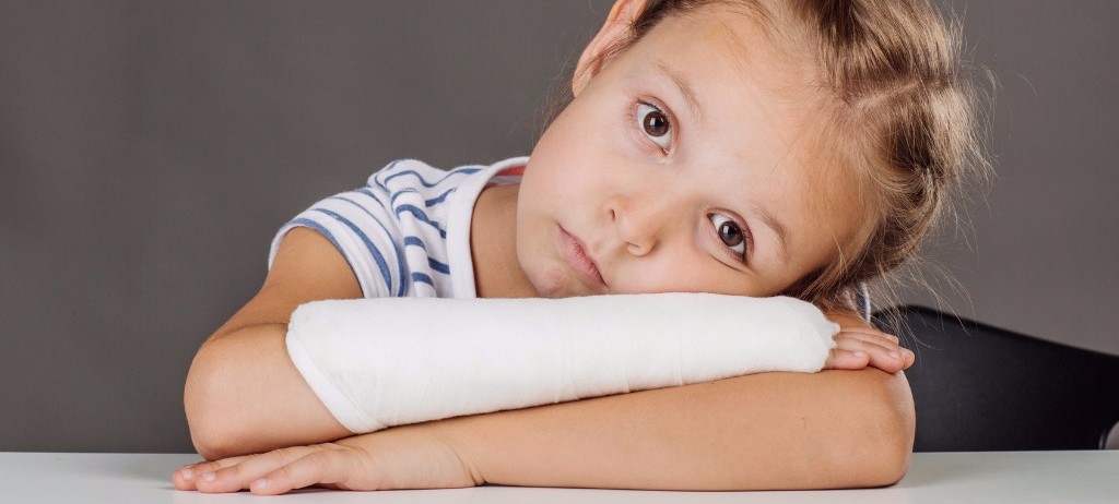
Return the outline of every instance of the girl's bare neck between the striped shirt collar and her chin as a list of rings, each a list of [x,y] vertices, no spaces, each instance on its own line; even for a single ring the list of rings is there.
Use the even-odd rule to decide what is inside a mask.
[[[519,184],[491,186],[474,202],[470,254],[478,297],[536,297],[517,259]]]

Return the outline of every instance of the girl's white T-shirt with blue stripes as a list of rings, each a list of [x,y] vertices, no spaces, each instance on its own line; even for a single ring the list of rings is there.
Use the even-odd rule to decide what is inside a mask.
[[[276,232],[302,226],[327,237],[349,263],[365,297],[477,297],[470,255],[474,201],[490,184],[516,183],[528,158],[440,170],[394,161],[352,191],[321,200]]]

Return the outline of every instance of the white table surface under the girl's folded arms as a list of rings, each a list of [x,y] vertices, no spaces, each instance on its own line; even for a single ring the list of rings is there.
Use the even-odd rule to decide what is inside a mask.
[[[915,454],[887,488],[816,492],[651,492],[586,488],[474,488],[341,492],[281,497],[199,494],[171,485],[196,455],[0,453],[2,503],[1119,503],[1119,450]]]

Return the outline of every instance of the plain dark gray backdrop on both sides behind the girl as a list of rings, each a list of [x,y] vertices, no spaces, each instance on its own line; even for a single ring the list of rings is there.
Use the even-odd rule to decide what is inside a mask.
[[[0,0],[0,450],[190,451],[190,359],[273,231],[395,158],[528,153],[609,3]],[[998,180],[941,291],[1119,354],[1119,3],[956,6]]]

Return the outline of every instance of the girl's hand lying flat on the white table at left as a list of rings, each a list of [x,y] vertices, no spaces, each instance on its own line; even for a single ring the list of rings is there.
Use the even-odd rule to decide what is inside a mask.
[[[311,446],[204,462],[176,470],[178,489],[278,495],[338,489],[461,488],[481,483],[431,425],[404,426]]]

